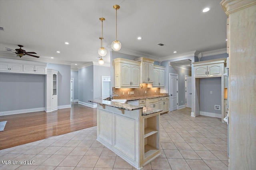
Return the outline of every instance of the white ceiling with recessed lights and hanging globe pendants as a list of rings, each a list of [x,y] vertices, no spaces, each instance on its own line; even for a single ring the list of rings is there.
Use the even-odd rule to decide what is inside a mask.
[[[117,11],[120,52],[161,60],[190,51],[226,47],[227,17],[220,0],[1,0],[0,27],[4,31],[0,31],[0,51],[6,51],[5,47],[17,49],[19,44],[40,56],[38,59],[24,56],[24,60],[62,61],[72,67],[97,62],[99,18],[104,17],[103,45],[108,54],[103,59],[110,63],[109,50],[116,31],[114,4],[120,5]],[[203,13],[205,7],[211,10]],[[138,40],[138,36],[142,39]],[[66,41],[70,44],[65,45]],[[0,52],[0,56],[16,55]]]

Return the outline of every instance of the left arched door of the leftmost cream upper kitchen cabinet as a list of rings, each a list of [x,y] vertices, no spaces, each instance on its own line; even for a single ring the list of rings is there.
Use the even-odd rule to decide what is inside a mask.
[[[121,64],[121,87],[131,86],[131,65]]]

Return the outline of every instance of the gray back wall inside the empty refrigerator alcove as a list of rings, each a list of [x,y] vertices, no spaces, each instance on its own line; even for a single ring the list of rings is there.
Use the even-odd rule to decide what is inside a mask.
[[[214,105],[221,107],[221,78],[200,78],[200,111],[221,114]]]

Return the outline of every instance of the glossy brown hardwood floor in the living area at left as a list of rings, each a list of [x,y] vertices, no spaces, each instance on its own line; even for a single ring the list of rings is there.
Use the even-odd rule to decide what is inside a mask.
[[[97,108],[73,103],[71,108],[0,116],[0,150],[97,125]]]

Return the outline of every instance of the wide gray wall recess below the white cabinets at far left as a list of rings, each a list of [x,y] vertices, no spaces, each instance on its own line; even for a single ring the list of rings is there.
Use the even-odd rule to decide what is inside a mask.
[[[45,107],[45,75],[0,73],[0,111]]]

